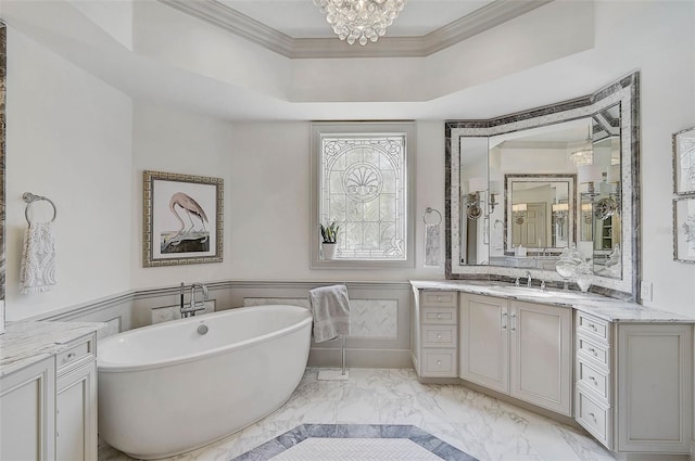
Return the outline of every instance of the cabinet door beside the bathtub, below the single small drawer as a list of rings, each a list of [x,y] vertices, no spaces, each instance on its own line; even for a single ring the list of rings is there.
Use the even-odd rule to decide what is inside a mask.
[[[97,366],[90,362],[58,380],[55,459],[97,459]]]

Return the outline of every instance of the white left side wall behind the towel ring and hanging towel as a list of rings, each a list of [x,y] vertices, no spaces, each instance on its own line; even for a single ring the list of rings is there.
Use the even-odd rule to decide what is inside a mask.
[[[130,287],[130,98],[8,28],[7,318]],[[24,192],[58,207],[58,285],[20,294]],[[37,218],[50,218],[46,202]]]

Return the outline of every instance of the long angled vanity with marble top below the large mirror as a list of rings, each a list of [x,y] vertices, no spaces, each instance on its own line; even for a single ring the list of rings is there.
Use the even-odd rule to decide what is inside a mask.
[[[573,418],[623,456],[691,452],[695,319],[580,292],[410,283],[420,381]]]

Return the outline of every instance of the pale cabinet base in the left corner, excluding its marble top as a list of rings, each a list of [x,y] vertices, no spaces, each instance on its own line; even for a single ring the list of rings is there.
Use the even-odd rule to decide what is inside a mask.
[[[97,459],[97,335],[0,380],[0,459]]]

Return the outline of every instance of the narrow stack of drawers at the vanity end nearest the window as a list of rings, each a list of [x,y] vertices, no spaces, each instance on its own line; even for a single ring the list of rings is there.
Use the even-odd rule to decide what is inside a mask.
[[[456,377],[458,293],[422,291],[418,307],[419,375]]]

